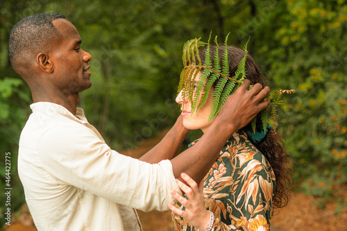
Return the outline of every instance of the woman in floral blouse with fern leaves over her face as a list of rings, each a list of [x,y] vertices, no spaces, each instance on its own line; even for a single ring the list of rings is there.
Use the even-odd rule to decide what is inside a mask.
[[[220,60],[226,46],[219,46]],[[198,51],[202,62],[207,48]],[[217,46],[210,46],[213,57]],[[230,76],[235,75],[237,66],[244,58],[244,51],[228,46]],[[223,63],[220,62],[221,66]],[[251,84],[264,79],[251,55],[246,58],[246,78]],[[196,75],[194,91],[203,69]],[[219,78],[218,81],[223,78]],[[176,102],[183,108],[183,125],[189,130],[208,130],[208,120],[214,87],[210,89],[206,103],[191,113],[192,103],[188,97],[178,94]],[[196,94],[196,92],[194,92]],[[258,116],[259,117],[259,116]],[[260,119],[258,119],[260,121]],[[194,145],[198,140],[191,144]],[[186,174],[178,186],[186,194],[185,198],[175,191],[176,206],[169,205],[176,230],[269,230],[273,208],[285,207],[289,199],[291,185],[291,164],[285,152],[282,137],[271,126],[262,130],[257,126],[253,133],[251,124],[232,134],[221,150],[209,173],[198,185]],[[183,209],[184,207],[184,209]]]

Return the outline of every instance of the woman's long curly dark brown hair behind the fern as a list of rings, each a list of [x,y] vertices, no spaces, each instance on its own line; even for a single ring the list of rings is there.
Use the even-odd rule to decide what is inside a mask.
[[[219,46],[219,60],[223,60],[223,51],[226,46]],[[213,57],[214,51],[217,46],[210,46],[211,57]],[[201,62],[205,62],[206,48],[199,51]],[[229,73],[230,77],[235,76],[235,71],[239,62],[244,58],[244,50],[239,49],[237,46],[228,46],[228,60],[229,60]],[[221,62],[221,67],[223,63]],[[259,67],[255,63],[255,60],[251,55],[247,54],[246,59],[246,78],[251,81],[251,84],[260,83],[265,86],[264,78],[260,72]],[[220,78],[221,79],[221,78]],[[214,83],[214,87],[217,85],[218,80]],[[257,121],[261,121],[258,114]],[[248,126],[251,126],[248,124]],[[254,144],[255,147],[266,157],[269,161],[273,172],[276,176],[276,189],[273,198],[273,208],[285,207],[290,198],[290,189],[293,184],[294,169],[291,164],[290,155],[285,149],[285,139],[282,135],[275,132],[273,129],[266,133],[264,139],[261,142]]]

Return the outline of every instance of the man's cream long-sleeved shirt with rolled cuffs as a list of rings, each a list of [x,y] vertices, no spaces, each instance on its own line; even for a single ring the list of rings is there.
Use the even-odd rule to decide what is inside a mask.
[[[18,172],[38,230],[142,230],[135,209],[167,210],[180,192],[171,162],[112,150],[77,108],[33,103],[19,140]]]

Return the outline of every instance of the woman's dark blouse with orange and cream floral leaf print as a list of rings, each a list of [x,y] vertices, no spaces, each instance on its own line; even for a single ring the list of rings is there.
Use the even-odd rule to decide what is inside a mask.
[[[232,134],[204,178],[205,207],[215,216],[213,230],[269,230],[275,187],[269,162],[246,132]],[[198,230],[183,217],[171,216],[175,230]]]

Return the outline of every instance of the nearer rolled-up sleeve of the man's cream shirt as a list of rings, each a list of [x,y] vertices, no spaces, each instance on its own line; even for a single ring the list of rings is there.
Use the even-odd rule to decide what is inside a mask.
[[[89,128],[49,128],[38,142],[43,168],[66,185],[143,211],[167,210],[180,192],[171,162],[149,164],[113,151]]]

